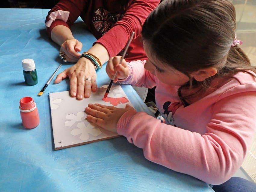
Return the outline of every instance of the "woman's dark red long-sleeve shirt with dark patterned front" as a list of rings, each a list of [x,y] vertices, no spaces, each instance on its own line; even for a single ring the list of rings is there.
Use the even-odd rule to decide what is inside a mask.
[[[110,57],[118,55],[123,50],[134,31],[135,36],[125,59],[147,60],[140,33],[148,14],[159,2],[160,0],[130,0],[128,8],[124,10],[118,0],[61,0],[49,11],[45,22],[49,20],[52,12],[58,10],[70,12],[67,22],[56,19],[47,27],[47,33],[51,37],[51,31],[57,25],[70,28],[80,16],[89,31],[98,39],[95,43],[103,45]]]

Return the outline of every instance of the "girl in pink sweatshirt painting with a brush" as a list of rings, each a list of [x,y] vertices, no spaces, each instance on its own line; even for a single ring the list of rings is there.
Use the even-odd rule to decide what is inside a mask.
[[[255,67],[237,44],[228,0],[166,0],[146,19],[148,61],[108,61],[125,84],[155,89],[164,122],[125,109],[89,104],[87,119],[143,149],[150,161],[209,184],[242,164],[256,127]],[[143,70],[142,68],[145,68]]]

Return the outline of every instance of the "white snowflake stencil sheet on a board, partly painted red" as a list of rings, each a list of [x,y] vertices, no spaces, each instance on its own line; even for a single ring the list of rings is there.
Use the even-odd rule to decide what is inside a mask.
[[[50,93],[50,108],[55,150],[118,137],[119,135],[90,124],[85,118],[89,103],[125,108],[130,103],[120,85],[112,85],[105,101],[102,98],[108,85],[98,88],[90,98],[77,100],[69,91]]]

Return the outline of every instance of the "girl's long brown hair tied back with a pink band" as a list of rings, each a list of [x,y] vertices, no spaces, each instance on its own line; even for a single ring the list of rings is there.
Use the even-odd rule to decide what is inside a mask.
[[[228,0],[165,0],[146,19],[142,38],[155,58],[186,74],[190,81],[178,90],[184,106],[215,77],[256,72],[235,39],[236,12]],[[215,67],[217,74],[202,82],[189,74]],[[251,73],[250,73],[251,74]],[[251,74],[253,75],[253,74]],[[194,93],[183,95],[193,88]]]

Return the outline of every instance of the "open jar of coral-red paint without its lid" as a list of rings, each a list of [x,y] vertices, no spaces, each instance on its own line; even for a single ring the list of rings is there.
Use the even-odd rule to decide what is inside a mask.
[[[33,98],[23,97],[20,99],[20,116],[26,129],[33,129],[39,125],[39,114]]]

